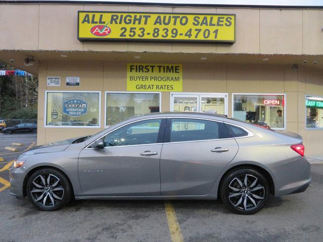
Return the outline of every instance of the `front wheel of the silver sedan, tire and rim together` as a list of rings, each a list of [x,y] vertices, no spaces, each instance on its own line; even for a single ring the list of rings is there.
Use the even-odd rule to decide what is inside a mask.
[[[68,204],[72,197],[71,185],[66,176],[51,168],[35,171],[29,177],[26,188],[32,204],[43,211],[59,210]]]

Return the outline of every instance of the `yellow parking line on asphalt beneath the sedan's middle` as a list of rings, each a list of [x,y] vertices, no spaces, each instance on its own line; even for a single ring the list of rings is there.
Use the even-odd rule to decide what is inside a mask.
[[[165,210],[166,210],[168,227],[170,229],[172,242],[183,242],[184,239],[183,239],[181,227],[180,227],[180,224],[178,223],[173,204],[171,202],[165,202]]]

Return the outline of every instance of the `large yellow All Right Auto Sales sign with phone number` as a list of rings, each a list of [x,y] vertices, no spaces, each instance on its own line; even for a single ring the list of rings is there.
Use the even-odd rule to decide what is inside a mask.
[[[80,41],[234,43],[235,14],[78,12]]]

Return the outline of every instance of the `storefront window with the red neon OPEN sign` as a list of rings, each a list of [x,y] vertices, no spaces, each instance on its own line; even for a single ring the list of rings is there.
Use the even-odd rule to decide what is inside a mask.
[[[272,129],[285,128],[285,96],[234,94],[233,117]]]

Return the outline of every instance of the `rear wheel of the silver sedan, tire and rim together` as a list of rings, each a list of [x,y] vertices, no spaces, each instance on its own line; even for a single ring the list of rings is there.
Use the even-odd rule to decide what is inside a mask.
[[[224,204],[232,211],[244,215],[261,210],[267,202],[269,192],[266,178],[249,167],[230,171],[224,177],[220,188]]]

